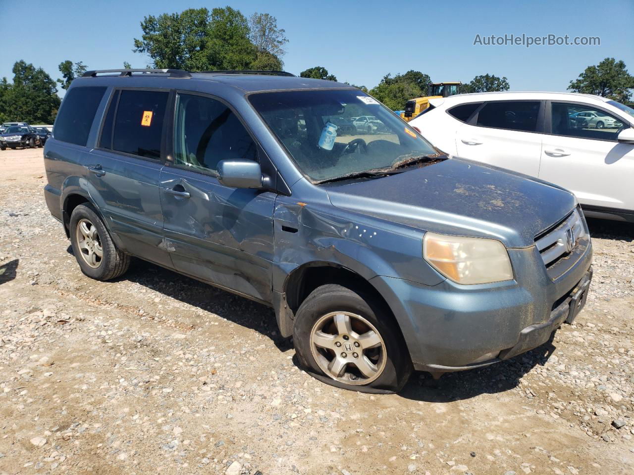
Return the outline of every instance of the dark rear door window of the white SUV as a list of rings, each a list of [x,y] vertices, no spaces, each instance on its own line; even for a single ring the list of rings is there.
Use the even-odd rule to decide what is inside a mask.
[[[489,102],[477,113],[476,125],[536,132],[540,101]]]

